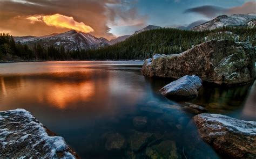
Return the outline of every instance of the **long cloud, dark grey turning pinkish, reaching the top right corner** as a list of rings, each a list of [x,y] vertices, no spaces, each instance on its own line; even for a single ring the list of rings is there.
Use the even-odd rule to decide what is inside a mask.
[[[233,14],[247,14],[255,13],[256,2],[246,2],[241,6],[236,6],[233,8],[221,8],[214,5],[203,5],[196,8],[186,9],[184,13],[198,13],[207,18],[215,18],[219,15],[233,15]]]

